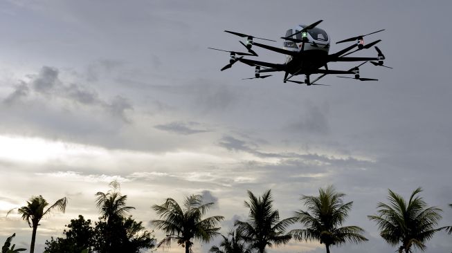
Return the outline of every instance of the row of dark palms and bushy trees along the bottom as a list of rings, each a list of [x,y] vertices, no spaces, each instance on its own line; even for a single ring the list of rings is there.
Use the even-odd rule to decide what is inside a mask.
[[[187,196],[183,205],[173,198],[167,198],[161,205],[152,205],[160,219],[151,223],[156,229],[165,232],[165,237],[159,242],[154,232],[147,231],[142,222],[127,216],[134,207],[127,206],[127,195],[120,194],[119,183],[113,181],[109,186],[111,189],[106,193],[96,194],[99,221],[93,225],[91,220],[79,215],[66,225],[67,230],[64,229],[62,237],[52,237],[46,241],[45,253],[138,253],[170,247],[172,242],[190,253],[196,241],[208,243],[216,236],[222,236],[222,241],[210,248],[211,253],[264,253],[267,247],[284,245],[291,240],[318,241],[325,245],[329,253],[332,246],[368,241],[361,227],[343,226],[353,202],[345,202],[345,194],[336,191],[333,186],[320,188],[318,196],[302,195],[300,200],[305,208],[294,212],[289,218],[280,218],[278,209],[273,207],[270,189],[262,196],[255,196],[248,191],[248,200],[244,201],[245,207],[249,209],[248,218],[246,221],[235,221],[228,234],[219,233],[219,223],[224,220],[224,216],[205,217],[215,203],[206,203],[200,195]],[[442,218],[442,209],[428,206],[419,196],[421,192],[422,188],[415,189],[406,200],[389,189],[388,202],[378,203],[377,214],[368,216],[379,227],[381,238],[396,247],[399,253],[426,250],[426,243],[436,232],[444,230],[452,234],[452,226],[437,227]],[[17,209],[21,218],[33,229],[30,253],[34,252],[39,221],[53,210],[64,212],[67,199],[61,198],[49,205],[42,196],[34,196],[26,206]],[[301,227],[287,231],[297,224]],[[7,238],[1,253],[26,250],[11,246],[14,236]]]

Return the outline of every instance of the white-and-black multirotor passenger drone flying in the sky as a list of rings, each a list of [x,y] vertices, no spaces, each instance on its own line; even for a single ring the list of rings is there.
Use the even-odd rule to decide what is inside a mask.
[[[271,75],[260,75],[261,73],[270,73],[270,72],[284,72],[284,83],[285,82],[293,82],[296,84],[307,84],[309,85],[326,85],[326,84],[317,84],[316,82],[325,77],[325,75],[354,75],[354,77],[345,77],[338,76],[342,78],[350,78],[356,79],[359,81],[378,81],[378,79],[372,78],[363,78],[359,75],[359,67],[365,64],[366,62],[370,62],[374,66],[383,66],[386,68],[391,68],[389,66],[385,66],[383,64],[383,60],[386,59],[381,53],[381,50],[375,46],[375,50],[377,50],[377,57],[346,57],[352,53],[355,53],[359,50],[368,49],[379,43],[381,39],[376,41],[372,41],[369,44],[364,44],[364,37],[368,35],[372,35],[377,32],[381,32],[382,30],[377,30],[376,32],[370,32],[366,35],[359,35],[356,37],[351,37],[349,39],[343,39],[341,41],[336,42],[336,44],[340,44],[348,41],[356,41],[352,46],[348,46],[343,50],[340,50],[332,55],[329,55],[329,36],[325,30],[317,28],[316,26],[320,24],[323,20],[319,20],[314,24],[310,24],[309,26],[299,25],[296,28],[289,29],[286,32],[285,37],[281,37],[284,39],[283,48],[276,48],[274,46],[268,46],[265,44],[260,44],[253,39],[261,39],[266,41],[274,41],[272,39],[264,39],[260,37],[255,37],[253,35],[245,35],[239,32],[232,32],[229,30],[225,30],[233,35],[237,35],[239,37],[246,38],[246,44],[242,41],[239,41],[242,46],[244,46],[248,53],[222,50],[217,48],[210,48],[213,50],[220,50],[227,53],[230,53],[229,64],[224,66],[221,71],[224,71],[233,66],[236,62],[242,62],[249,66],[255,67],[255,77],[244,78],[244,79],[255,79],[255,78],[266,78]],[[276,41],[274,41],[276,42]],[[253,46],[257,46],[260,48],[265,48],[267,50],[274,51],[276,53],[282,53],[287,55],[286,62],[284,64],[274,64],[270,62],[260,62],[255,61],[253,59],[246,59],[245,56],[258,56],[257,53],[251,48]],[[351,51],[351,52],[350,52]],[[336,71],[330,70],[328,68],[329,62],[362,62],[358,66],[351,68],[348,71]],[[309,76],[314,74],[320,74],[314,81],[310,81]],[[296,75],[305,75],[305,81],[296,81],[291,80],[292,77]]]

